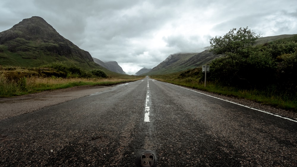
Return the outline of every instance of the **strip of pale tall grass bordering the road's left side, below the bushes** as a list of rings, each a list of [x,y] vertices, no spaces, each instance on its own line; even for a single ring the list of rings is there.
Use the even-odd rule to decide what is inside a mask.
[[[18,82],[0,82],[0,97],[20,96],[45,90],[55,90],[61,88],[70,88],[83,85],[109,86],[123,82],[131,82],[143,77],[125,77],[125,78],[39,78],[23,77]]]

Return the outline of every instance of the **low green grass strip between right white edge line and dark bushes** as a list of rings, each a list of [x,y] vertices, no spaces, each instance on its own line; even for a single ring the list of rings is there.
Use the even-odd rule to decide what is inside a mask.
[[[245,98],[261,104],[266,104],[277,108],[293,110],[294,112],[297,112],[296,97],[288,98],[286,95],[274,95],[273,92],[269,92],[269,90],[242,90],[234,87],[220,86],[211,82],[207,82],[206,87],[204,87],[204,82],[201,82],[199,78],[181,79],[177,76],[178,75],[159,75],[153,76],[153,78],[160,81],[173,83],[176,85],[217,93],[220,95]]]

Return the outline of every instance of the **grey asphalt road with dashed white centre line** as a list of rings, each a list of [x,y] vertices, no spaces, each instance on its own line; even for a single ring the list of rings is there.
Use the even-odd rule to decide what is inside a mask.
[[[297,166],[297,121],[145,78],[0,120],[0,166]]]

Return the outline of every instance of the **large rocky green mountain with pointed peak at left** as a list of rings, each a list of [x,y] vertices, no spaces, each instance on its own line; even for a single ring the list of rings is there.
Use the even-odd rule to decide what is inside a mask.
[[[23,19],[0,32],[0,64],[34,67],[55,61],[75,63],[83,69],[102,69],[90,53],[61,36],[43,18]]]

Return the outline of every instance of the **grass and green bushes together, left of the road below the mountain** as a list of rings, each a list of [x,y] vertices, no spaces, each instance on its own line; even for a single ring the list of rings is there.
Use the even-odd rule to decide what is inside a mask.
[[[86,71],[60,61],[35,68],[0,66],[0,97],[83,85],[109,86],[141,78],[120,74],[108,76],[99,69]]]

